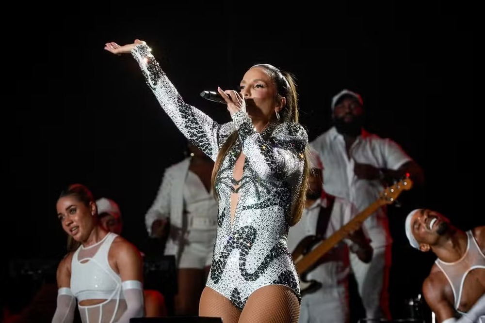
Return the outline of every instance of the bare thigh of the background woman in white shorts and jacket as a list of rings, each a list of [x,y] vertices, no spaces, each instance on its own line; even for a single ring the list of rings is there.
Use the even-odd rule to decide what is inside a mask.
[[[178,293],[175,296],[176,315],[197,315],[199,298],[204,285],[204,269],[178,269]]]

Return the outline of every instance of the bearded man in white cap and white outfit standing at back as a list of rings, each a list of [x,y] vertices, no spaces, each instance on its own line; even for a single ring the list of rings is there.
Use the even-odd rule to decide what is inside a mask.
[[[327,193],[353,202],[359,211],[379,199],[385,184],[402,180],[406,174],[415,185],[424,183],[420,166],[389,138],[363,129],[364,109],[360,94],[342,90],[332,98],[333,126],[310,146],[325,168],[323,187]],[[372,240],[370,263],[351,254],[351,266],[367,319],[391,319],[388,279],[391,246],[387,206],[383,205],[364,222]]]

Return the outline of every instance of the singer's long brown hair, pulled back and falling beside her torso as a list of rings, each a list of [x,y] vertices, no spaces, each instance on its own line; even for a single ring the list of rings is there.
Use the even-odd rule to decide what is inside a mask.
[[[252,67],[263,68],[268,75],[270,75],[276,85],[276,93],[280,97],[286,99],[286,105],[279,111],[280,118],[272,122],[276,123],[298,123],[298,93],[296,92],[295,77],[286,71],[280,70],[279,68],[271,64],[257,64]],[[222,161],[226,156],[227,152],[234,146],[238,139],[238,132],[233,132],[222,145],[217,155],[216,161],[214,163],[214,168],[212,169],[212,186],[215,190],[215,179],[217,177],[217,172],[219,171]],[[301,218],[303,209],[305,208],[305,198],[307,192],[307,179],[308,179],[308,145],[305,147],[304,152],[304,168],[303,177],[299,187],[298,198],[296,199],[294,205],[291,209],[291,217],[289,225],[295,225]]]

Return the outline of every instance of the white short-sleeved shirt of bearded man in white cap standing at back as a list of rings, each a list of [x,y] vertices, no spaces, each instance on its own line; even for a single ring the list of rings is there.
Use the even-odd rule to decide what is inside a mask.
[[[395,141],[367,132],[363,132],[352,144],[349,158],[343,136],[335,127],[310,142],[310,146],[318,152],[322,161],[325,191],[350,200],[359,211],[379,199],[384,187],[377,180],[358,179],[354,173],[356,163],[396,170],[411,160]],[[392,243],[386,206],[364,221],[364,229],[369,234],[373,247]]]

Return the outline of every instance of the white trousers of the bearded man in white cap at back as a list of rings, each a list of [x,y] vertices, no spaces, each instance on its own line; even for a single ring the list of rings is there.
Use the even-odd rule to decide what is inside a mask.
[[[356,277],[358,292],[367,319],[390,320],[389,271],[392,245],[374,247],[372,261],[364,263],[350,254],[350,265]]]

